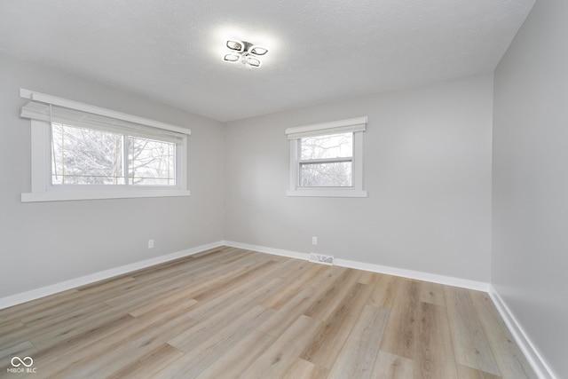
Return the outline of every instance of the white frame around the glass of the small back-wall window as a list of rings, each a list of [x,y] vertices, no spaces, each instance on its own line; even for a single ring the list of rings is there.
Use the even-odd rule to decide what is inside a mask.
[[[313,196],[313,197],[367,197],[367,191],[363,190],[363,132],[367,127],[367,116],[340,120],[335,122],[323,122],[312,125],[288,128],[286,134],[290,143],[290,176],[287,196]],[[353,156],[351,166],[352,186],[346,187],[306,187],[299,186],[300,163],[300,139],[308,136],[323,136],[344,132],[353,133]]]

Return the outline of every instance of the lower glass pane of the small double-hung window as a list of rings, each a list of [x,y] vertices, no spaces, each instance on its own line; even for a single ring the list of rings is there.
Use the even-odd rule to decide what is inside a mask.
[[[352,186],[352,162],[300,163],[300,186]]]

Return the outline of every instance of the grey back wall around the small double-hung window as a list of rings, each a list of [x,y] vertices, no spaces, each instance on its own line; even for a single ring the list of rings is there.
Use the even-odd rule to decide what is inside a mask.
[[[284,130],[363,115],[368,198],[286,197]],[[225,240],[488,282],[492,116],[478,75],[229,122]]]

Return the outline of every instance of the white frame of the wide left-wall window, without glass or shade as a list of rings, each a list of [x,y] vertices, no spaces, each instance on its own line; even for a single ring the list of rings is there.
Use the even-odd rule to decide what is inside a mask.
[[[48,121],[31,119],[31,192],[21,193],[22,202],[75,201],[98,199],[124,199],[142,197],[189,196],[187,189],[187,136],[191,130],[162,122],[122,114],[110,109],[93,107],[75,101],[60,99],[36,91],[20,89],[20,97],[68,107],[90,114],[99,114],[117,120],[135,122],[160,130],[182,133],[184,137],[176,146],[177,186],[130,186],[126,185],[56,185],[51,186],[51,125]]]

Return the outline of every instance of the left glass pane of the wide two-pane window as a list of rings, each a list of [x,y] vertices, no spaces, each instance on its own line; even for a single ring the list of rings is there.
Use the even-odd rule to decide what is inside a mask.
[[[122,136],[51,125],[52,185],[122,185]]]

